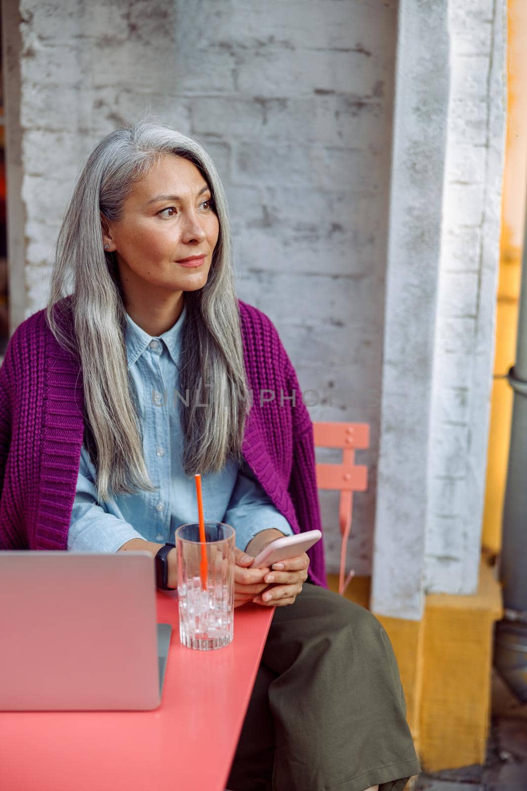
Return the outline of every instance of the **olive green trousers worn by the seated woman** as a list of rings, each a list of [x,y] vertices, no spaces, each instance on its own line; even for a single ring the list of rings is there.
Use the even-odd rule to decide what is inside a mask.
[[[420,772],[405,714],[382,624],[306,583],[274,613],[227,787],[402,791]]]

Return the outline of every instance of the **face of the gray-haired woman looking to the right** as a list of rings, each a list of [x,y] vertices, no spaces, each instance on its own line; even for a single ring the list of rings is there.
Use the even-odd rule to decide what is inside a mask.
[[[134,184],[122,218],[104,234],[129,299],[163,300],[205,286],[220,232],[211,198],[198,168],[171,154]],[[193,256],[203,256],[198,266],[182,263]]]

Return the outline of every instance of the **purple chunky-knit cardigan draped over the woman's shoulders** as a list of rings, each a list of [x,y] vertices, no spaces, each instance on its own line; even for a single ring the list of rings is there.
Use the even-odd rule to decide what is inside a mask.
[[[70,305],[71,297],[58,302],[73,331]],[[295,371],[265,313],[241,300],[239,311],[253,391],[243,456],[295,532],[320,529],[313,426]],[[66,550],[83,405],[80,365],[40,310],[14,331],[0,368],[0,550]],[[322,541],[308,554],[311,581],[326,587]]]

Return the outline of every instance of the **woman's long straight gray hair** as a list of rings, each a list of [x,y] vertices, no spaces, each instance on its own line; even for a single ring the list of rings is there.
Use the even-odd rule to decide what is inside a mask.
[[[198,140],[142,120],[107,134],[86,161],[58,234],[46,318],[58,343],[78,358],[84,383],[85,445],[96,464],[100,499],[156,491],[142,450],[134,389],[127,370],[126,307],[112,253],[104,252],[101,216],[119,221],[122,204],[164,154],[191,161],[213,195],[220,234],[209,278],[185,293],[179,392],[187,475],[220,471],[241,460],[247,380],[232,266],[227,200],[216,165]],[[71,278],[71,279],[70,279]],[[62,331],[54,305],[71,297],[74,337]],[[204,408],[199,405],[207,403]]]

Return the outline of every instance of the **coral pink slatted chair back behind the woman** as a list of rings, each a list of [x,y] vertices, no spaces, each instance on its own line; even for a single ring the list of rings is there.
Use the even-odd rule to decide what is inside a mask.
[[[350,570],[345,576],[346,548],[352,527],[353,492],[367,490],[367,467],[355,464],[356,450],[370,446],[370,426],[367,423],[322,423],[313,424],[316,448],[342,448],[342,464],[317,464],[318,489],[333,489],[341,492],[338,520],[341,529],[341,569],[338,592],[344,596],[349,582],[355,574]]]

